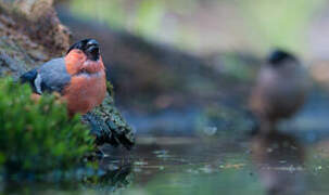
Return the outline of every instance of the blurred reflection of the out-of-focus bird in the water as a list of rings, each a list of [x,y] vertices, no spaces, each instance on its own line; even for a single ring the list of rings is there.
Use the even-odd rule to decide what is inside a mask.
[[[305,194],[304,148],[278,131],[260,133],[251,144],[252,160],[268,195]]]

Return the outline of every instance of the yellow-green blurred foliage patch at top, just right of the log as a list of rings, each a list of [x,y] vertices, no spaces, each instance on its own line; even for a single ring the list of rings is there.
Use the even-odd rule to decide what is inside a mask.
[[[98,0],[84,1],[73,0],[73,12],[109,23],[114,28],[124,28],[128,26],[128,30],[142,36],[152,36],[154,30],[160,29],[160,22],[164,15],[164,6],[162,1],[142,0],[134,2],[132,8],[127,1],[122,0]],[[91,10],[94,9],[94,10]],[[155,31],[156,32],[156,31]]]

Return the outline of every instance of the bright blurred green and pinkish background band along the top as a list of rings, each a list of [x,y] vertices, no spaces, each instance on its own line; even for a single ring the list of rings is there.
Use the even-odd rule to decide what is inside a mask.
[[[325,0],[72,0],[71,8],[75,14],[85,18],[96,18],[111,27],[123,28],[157,42],[174,43],[175,47],[186,50],[203,52],[204,44],[217,51],[222,49],[220,47],[232,47],[237,50],[241,50],[242,47],[243,50],[243,47],[246,49],[246,46],[243,46],[246,43],[252,50],[262,52],[271,47],[305,52],[312,20],[325,2]],[[225,10],[232,12],[227,15]],[[206,25],[216,21],[220,24]],[[213,38],[208,38],[210,35]],[[235,42],[226,40],[227,38],[233,39]],[[201,48],[201,51],[198,48]]]

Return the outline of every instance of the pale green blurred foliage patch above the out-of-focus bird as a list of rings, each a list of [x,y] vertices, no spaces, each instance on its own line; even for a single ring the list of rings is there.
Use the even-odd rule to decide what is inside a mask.
[[[239,1],[253,40],[261,49],[280,47],[296,52],[307,50],[306,36],[315,13],[325,0],[243,0]]]

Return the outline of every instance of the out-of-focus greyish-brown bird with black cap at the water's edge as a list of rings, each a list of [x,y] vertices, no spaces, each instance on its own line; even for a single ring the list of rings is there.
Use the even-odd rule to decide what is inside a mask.
[[[304,104],[309,79],[305,67],[292,54],[276,50],[261,68],[250,98],[251,110],[268,133],[276,122],[295,114]]]

